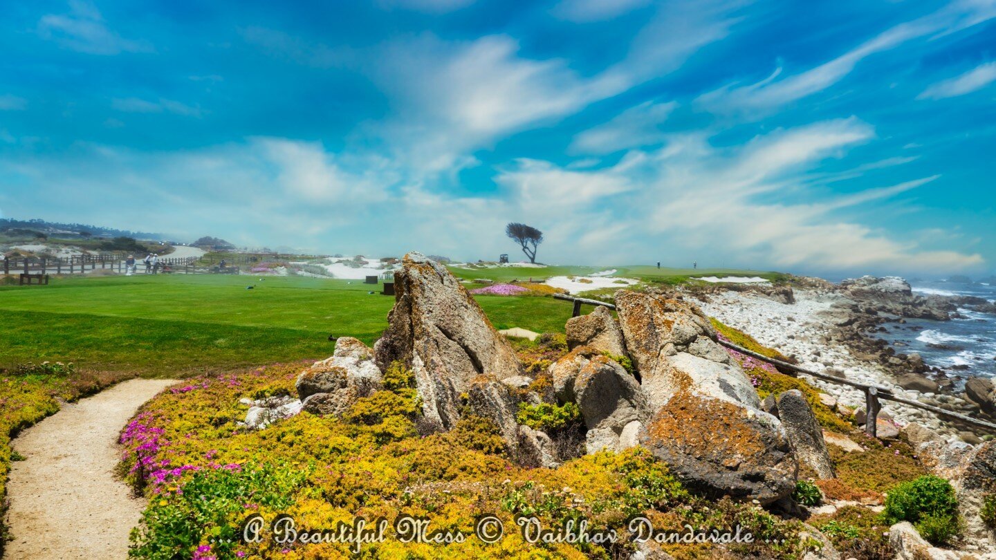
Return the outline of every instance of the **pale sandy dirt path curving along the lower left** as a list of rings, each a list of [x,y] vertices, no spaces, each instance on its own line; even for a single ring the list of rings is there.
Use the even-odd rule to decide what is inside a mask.
[[[169,380],[131,380],[26,429],[13,441],[6,558],[126,558],[144,507],[114,474],[118,434]]]

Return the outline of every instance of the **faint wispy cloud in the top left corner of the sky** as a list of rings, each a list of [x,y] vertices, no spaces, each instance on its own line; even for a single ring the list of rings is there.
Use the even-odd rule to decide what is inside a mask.
[[[38,33],[60,45],[91,55],[152,52],[145,40],[124,39],[108,28],[101,12],[85,0],[70,0],[68,14],[48,14],[38,22]]]

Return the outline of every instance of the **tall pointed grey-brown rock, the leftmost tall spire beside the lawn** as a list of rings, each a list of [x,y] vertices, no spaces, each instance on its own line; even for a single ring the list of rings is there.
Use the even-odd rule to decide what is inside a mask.
[[[446,267],[408,253],[394,273],[394,308],[374,345],[376,364],[411,369],[429,423],[449,429],[459,420],[460,395],[477,376],[521,374],[505,337]]]

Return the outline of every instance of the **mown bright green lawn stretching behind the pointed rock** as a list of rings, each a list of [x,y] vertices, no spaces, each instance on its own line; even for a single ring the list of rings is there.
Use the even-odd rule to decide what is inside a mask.
[[[245,275],[72,277],[0,287],[0,367],[72,361],[177,376],[322,359],[332,354],[330,334],[368,344],[380,336],[394,298],[379,290],[359,281]],[[569,303],[552,298],[478,301],[500,329],[563,332],[571,316]]]

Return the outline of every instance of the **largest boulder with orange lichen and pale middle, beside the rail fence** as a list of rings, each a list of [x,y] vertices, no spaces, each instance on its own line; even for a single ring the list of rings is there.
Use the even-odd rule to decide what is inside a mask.
[[[695,306],[616,295],[626,350],[653,416],[640,442],[687,486],[769,503],[789,495],[798,465],[781,422]]]

